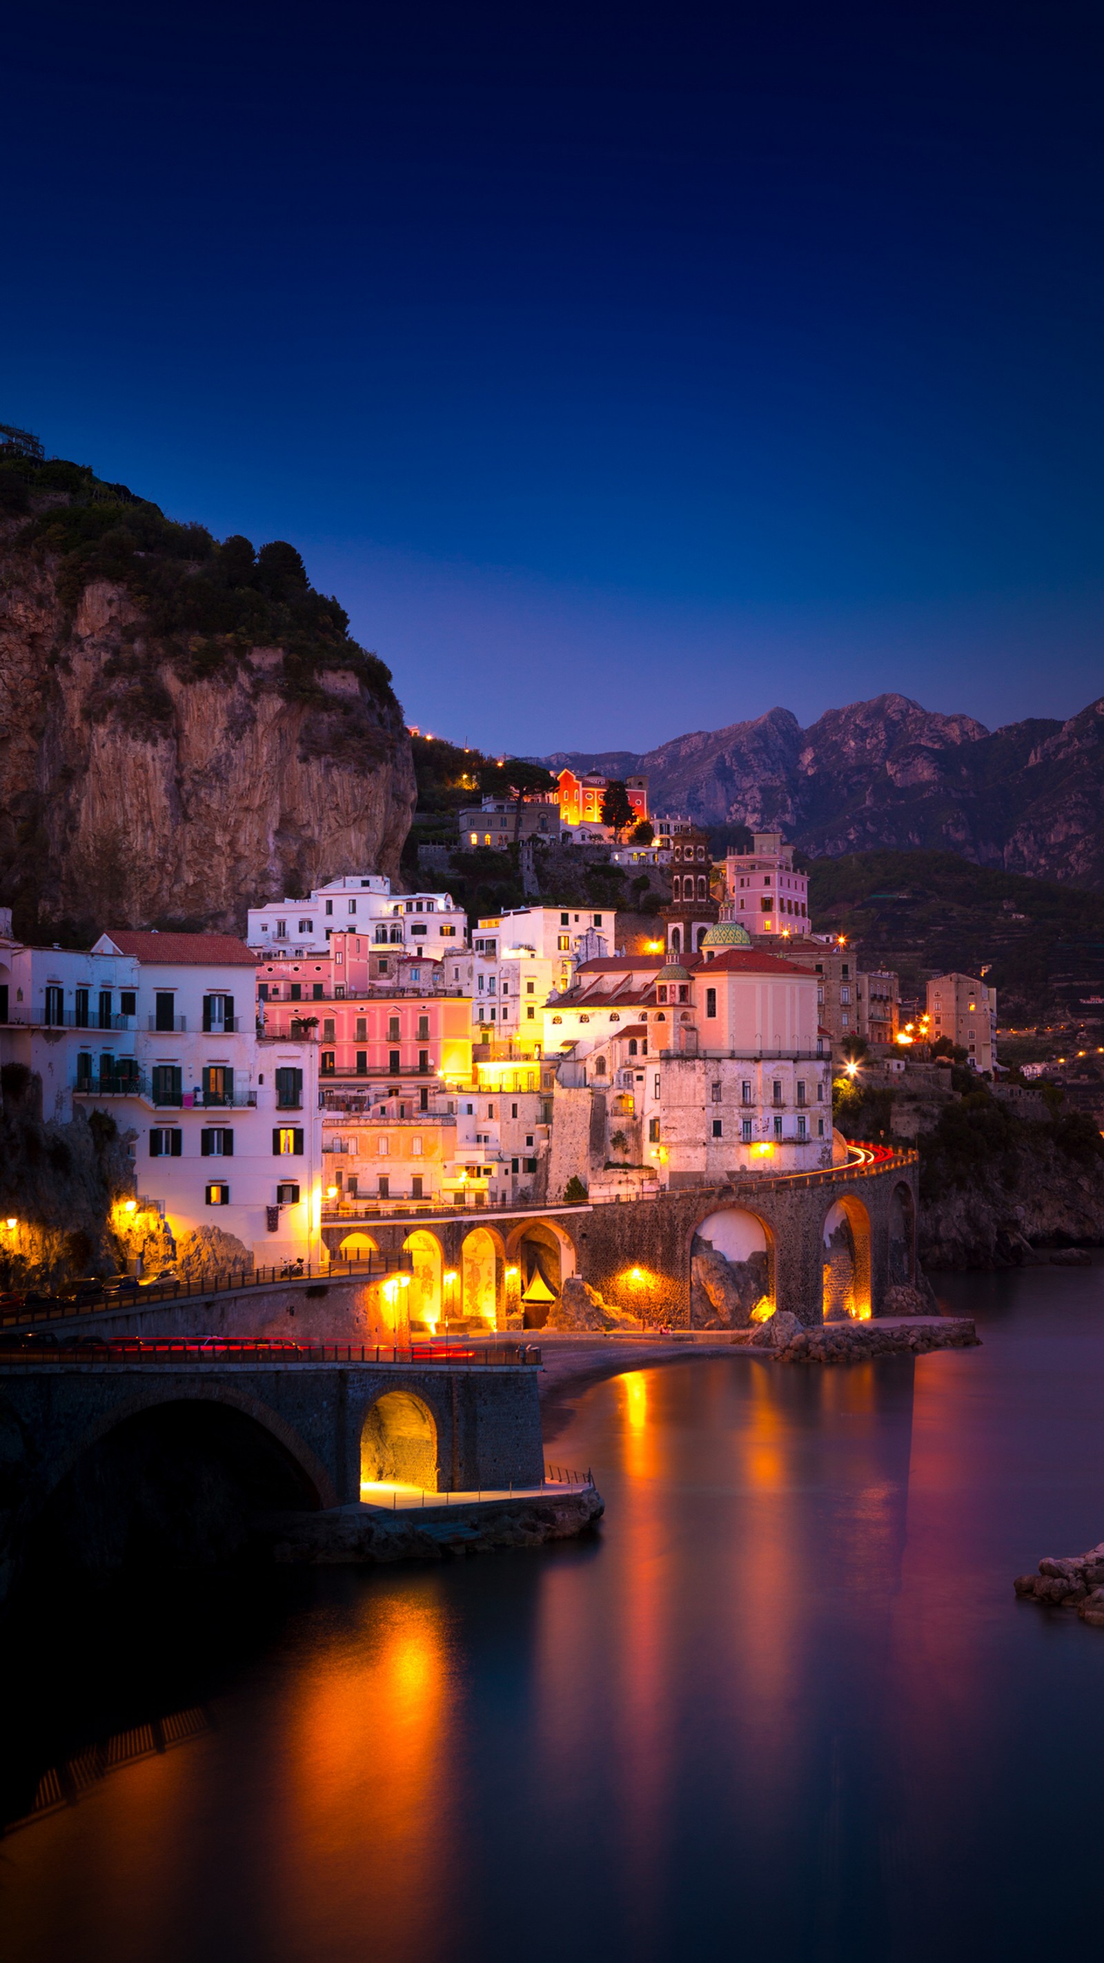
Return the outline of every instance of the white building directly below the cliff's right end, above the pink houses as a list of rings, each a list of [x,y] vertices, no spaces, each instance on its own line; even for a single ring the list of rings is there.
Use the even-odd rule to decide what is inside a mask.
[[[326,954],[333,932],[363,930],[375,946],[412,948],[441,960],[467,942],[467,915],[451,893],[392,893],[382,874],[329,879],[310,899],[249,907],[245,940],[280,958]]]

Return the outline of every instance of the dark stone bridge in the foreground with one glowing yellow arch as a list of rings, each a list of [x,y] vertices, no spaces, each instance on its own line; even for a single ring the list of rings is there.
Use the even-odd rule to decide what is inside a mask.
[[[478,1353],[475,1353],[478,1356]],[[0,1594],[27,1566],[239,1555],[267,1512],[539,1486],[533,1362],[0,1358]],[[384,1500],[386,1504],[386,1500]]]

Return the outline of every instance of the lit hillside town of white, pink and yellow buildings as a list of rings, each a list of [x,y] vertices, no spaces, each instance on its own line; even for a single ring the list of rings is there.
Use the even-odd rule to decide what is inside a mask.
[[[598,824],[604,793],[561,779],[565,828]],[[647,779],[629,793],[641,824]],[[900,1072],[947,1036],[992,1074],[994,991],[935,978],[902,1027],[896,976],[818,934],[780,832],[714,862],[688,821],[649,828],[671,874],[651,938],[549,903],[469,921],[375,872],[249,907],[243,938],[106,923],[45,948],[0,919],[0,1062],[41,1082],[47,1121],[110,1115],[151,1258],[198,1237],[224,1266],[359,1258],[394,1219],[822,1172],[847,1160],[833,1074],[857,1056]],[[559,1270],[539,1243],[524,1264],[539,1327]],[[496,1300],[486,1276],[427,1274],[412,1315],[494,1321]]]

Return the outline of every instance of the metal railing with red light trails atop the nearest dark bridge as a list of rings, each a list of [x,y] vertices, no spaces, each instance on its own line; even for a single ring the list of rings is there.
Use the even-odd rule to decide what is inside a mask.
[[[437,1364],[467,1364],[469,1370],[494,1368],[533,1368],[541,1366],[541,1351],[535,1343],[427,1343],[414,1347],[390,1343],[280,1343],[265,1337],[112,1337],[76,1343],[24,1345],[16,1351],[0,1347],[0,1364],[37,1366],[43,1362],[222,1362],[255,1364],[278,1362],[294,1364],[402,1364],[404,1368],[433,1368]],[[561,1482],[563,1484],[563,1482]],[[586,1484],[577,1476],[577,1484]]]

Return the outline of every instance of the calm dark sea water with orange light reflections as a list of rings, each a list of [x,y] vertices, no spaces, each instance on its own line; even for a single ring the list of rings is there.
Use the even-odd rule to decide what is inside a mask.
[[[10,1808],[194,1735],[0,1841],[6,1959],[1092,1943],[1104,1631],[1012,1576],[1104,1539],[1104,1270],[943,1294],[984,1349],[592,1388],[584,1545],[73,1604],[4,1678]]]

